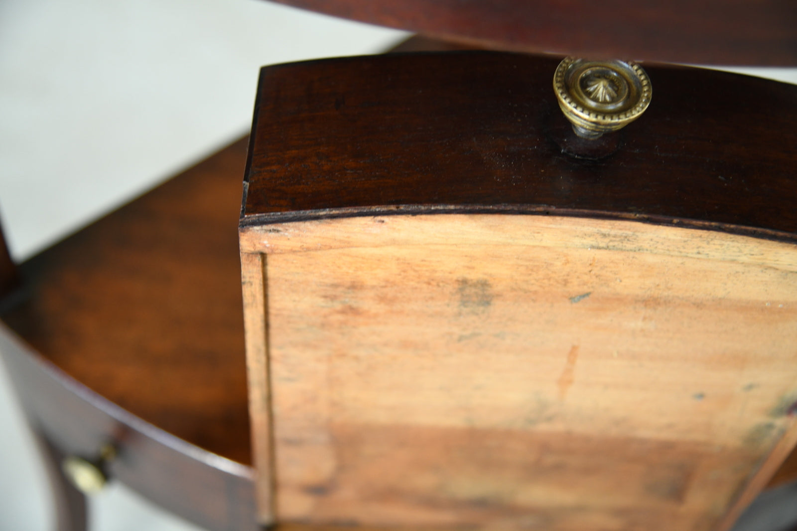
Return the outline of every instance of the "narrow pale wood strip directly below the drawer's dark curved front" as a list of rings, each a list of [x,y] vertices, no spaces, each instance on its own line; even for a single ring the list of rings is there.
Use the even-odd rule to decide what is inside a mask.
[[[522,241],[512,236],[518,230],[528,235]],[[426,244],[445,242],[454,235],[460,244],[469,239],[483,242],[489,238],[496,244],[666,253],[797,270],[795,248],[788,243],[696,228],[581,217],[492,214],[347,217],[242,227],[240,242],[241,252],[271,254]]]

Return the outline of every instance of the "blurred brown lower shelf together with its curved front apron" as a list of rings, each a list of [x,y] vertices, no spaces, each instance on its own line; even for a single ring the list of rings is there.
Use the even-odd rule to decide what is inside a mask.
[[[92,458],[112,443],[113,479],[218,531],[257,529],[237,231],[245,158],[241,139],[21,264],[22,291],[0,312],[28,345],[0,330],[50,453]],[[59,516],[80,520],[79,506]]]

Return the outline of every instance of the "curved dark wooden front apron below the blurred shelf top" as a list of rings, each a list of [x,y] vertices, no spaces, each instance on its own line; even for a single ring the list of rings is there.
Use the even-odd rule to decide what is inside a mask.
[[[106,468],[112,481],[124,483],[168,512],[209,531],[259,529],[251,468],[219,459],[143,422],[15,343],[5,329],[0,330],[2,361],[28,424],[45,447],[44,454],[49,455],[45,465],[49,465],[56,494],[59,531],[85,531],[86,525],[84,499],[58,473],[61,459],[65,455],[95,458],[106,443],[116,449],[116,457]],[[190,371],[186,373],[190,376]],[[124,367],[120,367],[120,376],[124,376]],[[179,387],[177,382],[171,385]],[[143,400],[147,390],[143,386],[141,394],[128,397],[128,403]],[[168,406],[163,404],[163,408]],[[175,404],[172,410],[180,407]]]

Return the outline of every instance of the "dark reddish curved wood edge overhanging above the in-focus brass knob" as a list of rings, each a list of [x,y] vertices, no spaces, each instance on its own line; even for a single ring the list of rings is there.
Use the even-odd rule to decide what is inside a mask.
[[[797,64],[791,0],[276,0],[492,49],[700,64]]]

